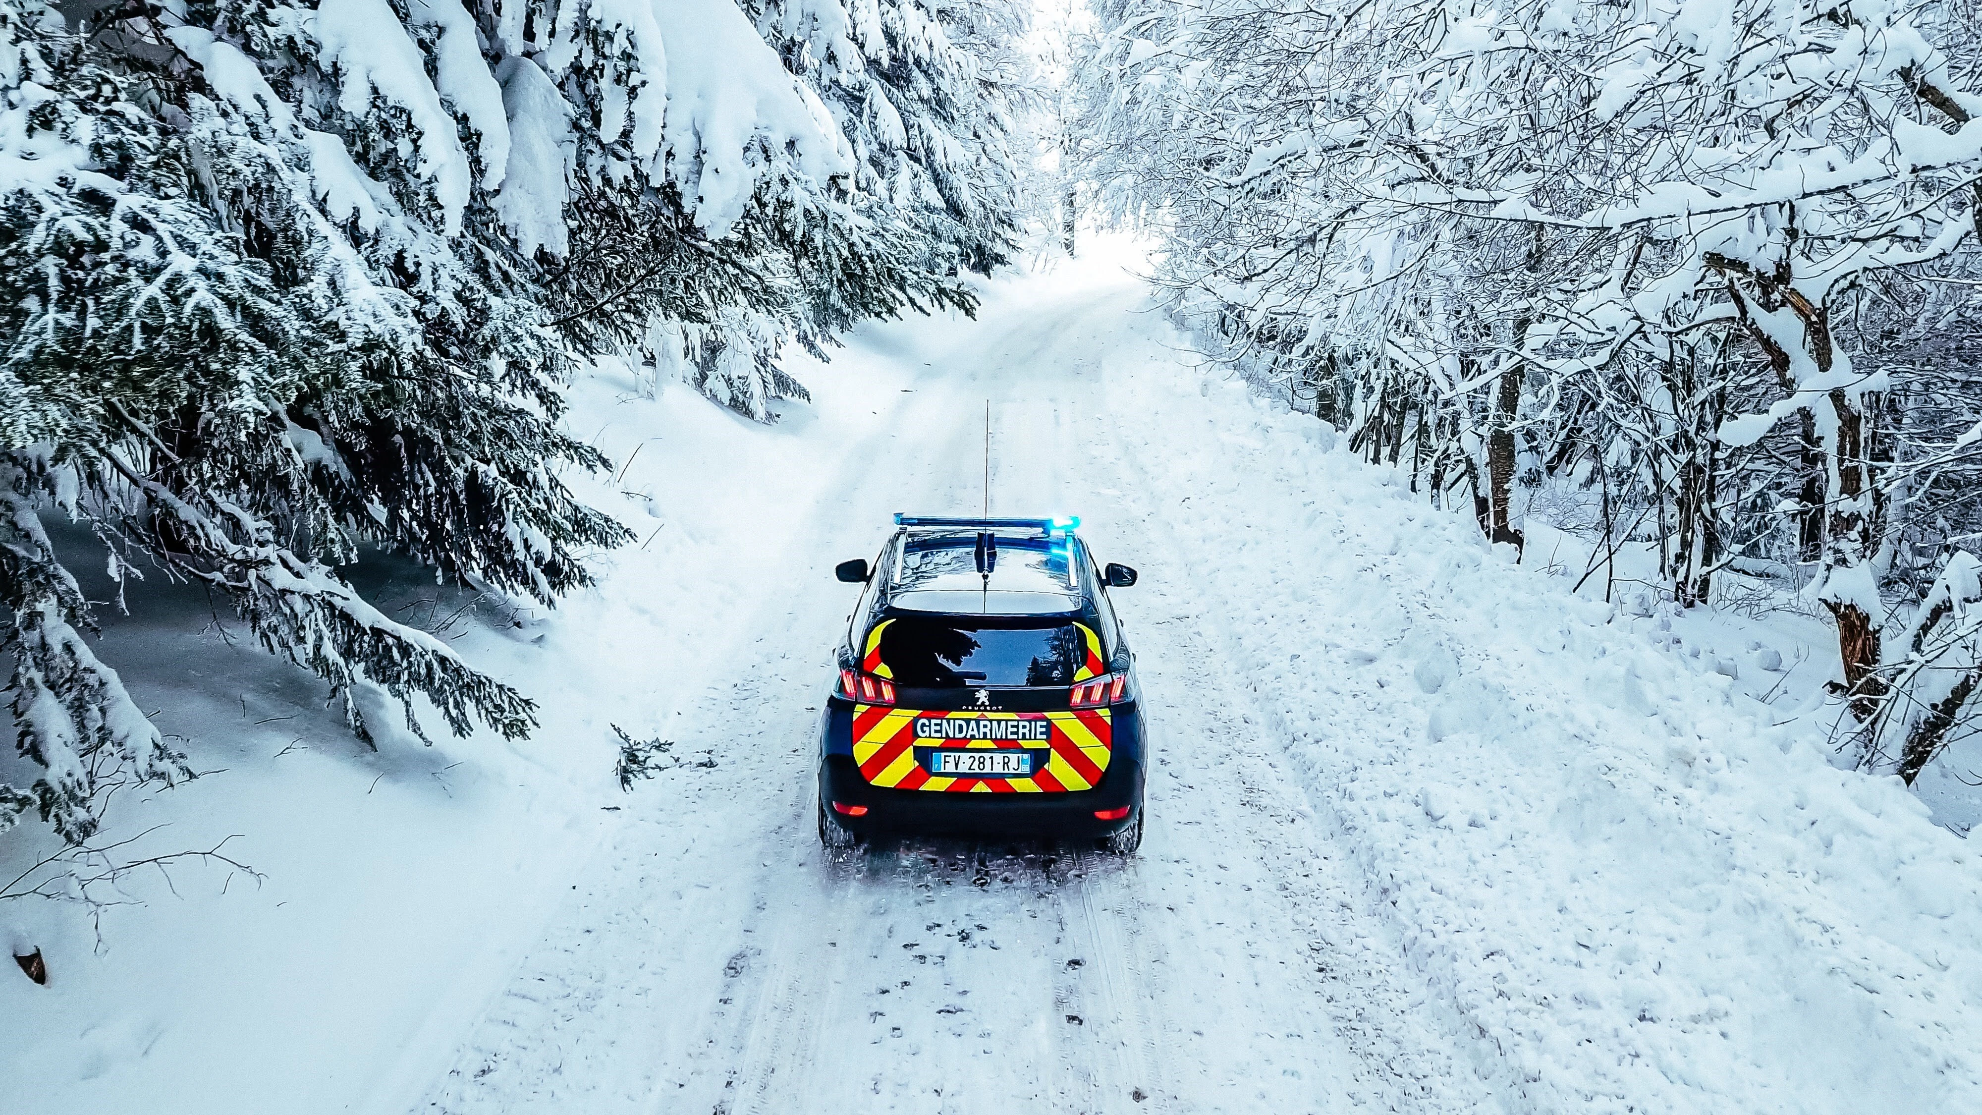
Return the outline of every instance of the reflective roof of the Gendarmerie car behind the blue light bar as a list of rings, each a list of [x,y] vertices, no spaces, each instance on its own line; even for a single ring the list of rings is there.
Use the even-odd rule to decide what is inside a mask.
[[[979,540],[991,540],[981,559]],[[945,615],[1078,615],[1086,609],[1082,552],[1068,534],[904,530],[888,607]],[[989,569],[985,569],[989,565]]]

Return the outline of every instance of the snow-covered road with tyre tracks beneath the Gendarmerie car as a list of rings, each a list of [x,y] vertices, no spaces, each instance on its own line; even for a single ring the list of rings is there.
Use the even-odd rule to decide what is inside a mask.
[[[1126,280],[902,327],[868,429],[821,496],[765,524],[751,607],[696,645],[725,663],[666,724],[714,768],[634,796],[428,1107],[496,1111],[1344,1111],[1467,1107],[1397,978],[1395,940],[1207,623],[1163,530],[1104,357],[1142,310]],[[894,383],[900,379],[900,385]],[[1152,708],[1142,855],[813,835],[815,720],[888,516],[1080,512]],[[749,514],[739,508],[739,514]],[[696,619],[688,619],[696,625]],[[704,639],[708,639],[704,643]],[[668,688],[656,677],[658,692]]]

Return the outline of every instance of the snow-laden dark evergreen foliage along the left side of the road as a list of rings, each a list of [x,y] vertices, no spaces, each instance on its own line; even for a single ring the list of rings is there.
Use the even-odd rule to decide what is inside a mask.
[[[575,359],[660,353],[763,419],[803,397],[783,345],[973,306],[1013,183],[943,28],[1005,44],[1019,8],[858,10],[821,67],[731,0],[0,0],[0,651],[44,772],[0,829],[81,841],[111,788],[188,776],[91,655],[52,510],[119,581],[224,593],[361,736],[361,684],[414,732],[422,696],[527,734],[525,694],[337,567],[383,546],[549,605],[628,540],[559,480],[606,464],[559,429]],[[932,121],[886,149],[912,204],[823,99],[868,52]]]

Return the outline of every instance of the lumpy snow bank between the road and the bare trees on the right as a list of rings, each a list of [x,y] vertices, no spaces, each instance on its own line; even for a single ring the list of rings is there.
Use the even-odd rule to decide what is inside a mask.
[[[1118,361],[1203,619],[1510,1109],[1982,1111],[1982,863],[1897,780],[1314,419]]]

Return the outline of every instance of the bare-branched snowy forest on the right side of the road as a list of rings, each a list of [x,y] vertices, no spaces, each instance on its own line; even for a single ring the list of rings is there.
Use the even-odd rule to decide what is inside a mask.
[[[1982,6],[1096,8],[1082,200],[1211,357],[1496,544],[1821,603],[1867,770],[1972,720]]]

